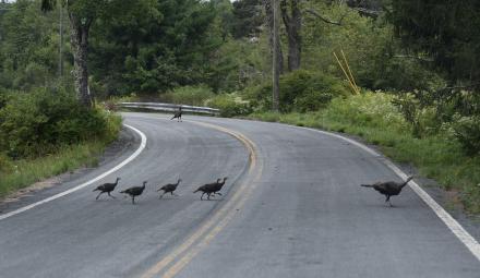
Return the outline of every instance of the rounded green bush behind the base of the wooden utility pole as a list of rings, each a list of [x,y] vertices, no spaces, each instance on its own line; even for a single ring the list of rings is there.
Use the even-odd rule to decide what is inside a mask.
[[[245,90],[252,104],[260,110],[272,107],[272,84]],[[280,77],[280,111],[314,111],[325,107],[333,98],[347,96],[346,85],[321,72],[298,70]]]

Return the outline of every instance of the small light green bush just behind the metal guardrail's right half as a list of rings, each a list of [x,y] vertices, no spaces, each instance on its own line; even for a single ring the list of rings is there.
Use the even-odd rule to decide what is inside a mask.
[[[160,100],[166,102],[204,106],[205,101],[215,95],[208,86],[182,86],[160,95]]]

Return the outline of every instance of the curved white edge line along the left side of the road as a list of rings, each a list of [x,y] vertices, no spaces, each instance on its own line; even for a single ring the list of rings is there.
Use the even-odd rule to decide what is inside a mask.
[[[56,194],[56,195],[53,195],[53,196],[50,196],[50,197],[48,197],[48,198],[45,198],[45,200],[38,201],[38,202],[33,203],[33,204],[27,205],[27,206],[21,207],[21,208],[19,208],[19,209],[13,210],[13,211],[10,211],[10,213],[7,213],[7,214],[3,214],[3,215],[0,215],[0,220],[3,220],[3,219],[5,219],[5,218],[12,217],[12,216],[14,216],[14,215],[21,214],[21,213],[26,211],[26,210],[28,210],[28,209],[32,209],[32,208],[34,208],[34,207],[36,207],[36,206],[39,206],[39,205],[43,205],[43,204],[49,203],[49,202],[51,202],[51,201],[53,201],[53,200],[57,200],[57,198],[59,198],[59,197],[63,197],[63,196],[65,196],[65,195],[68,195],[68,194],[71,194],[71,193],[73,193],[73,192],[75,192],[75,191],[79,191],[79,190],[81,190],[81,189],[83,189],[83,188],[86,188],[86,186],[91,185],[92,183],[97,182],[97,181],[104,179],[105,177],[109,176],[110,173],[112,173],[112,172],[119,170],[120,168],[122,168],[123,166],[125,166],[127,164],[129,164],[129,162],[131,162],[133,159],[135,159],[135,158],[142,153],[142,150],[143,150],[143,149],[145,148],[145,146],[146,146],[146,136],[145,136],[145,134],[144,134],[143,132],[141,132],[140,130],[137,130],[137,129],[135,129],[135,128],[133,128],[133,126],[131,126],[131,125],[129,125],[129,124],[124,124],[124,123],[123,123],[123,125],[127,126],[127,128],[129,128],[129,129],[131,129],[131,130],[133,130],[134,132],[139,133],[140,136],[142,137],[142,142],[141,142],[141,144],[140,144],[140,147],[135,150],[135,153],[133,153],[131,156],[129,156],[125,160],[121,161],[119,165],[117,165],[116,167],[111,168],[110,170],[104,172],[103,174],[100,174],[100,176],[98,176],[98,177],[96,177],[96,178],[94,178],[94,179],[92,179],[92,180],[89,180],[89,181],[86,181],[86,182],[84,182],[84,183],[82,183],[82,184],[80,184],[80,185],[77,185],[77,186],[75,186],[75,188],[73,188],[73,189],[70,189],[70,190],[63,191],[63,192],[58,193],[58,194]]]

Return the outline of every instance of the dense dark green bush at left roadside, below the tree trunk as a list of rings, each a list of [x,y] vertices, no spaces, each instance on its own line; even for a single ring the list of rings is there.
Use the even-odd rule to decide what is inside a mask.
[[[38,89],[10,95],[0,109],[0,152],[13,158],[55,153],[61,145],[112,140],[120,119],[80,106],[63,92]]]

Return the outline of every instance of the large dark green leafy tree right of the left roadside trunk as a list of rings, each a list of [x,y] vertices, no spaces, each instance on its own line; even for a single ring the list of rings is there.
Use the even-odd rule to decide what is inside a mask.
[[[211,60],[223,44],[215,3],[155,1],[131,16],[96,22],[89,59],[105,94],[158,93],[179,85],[207,83]]]

